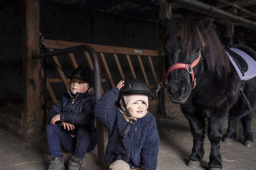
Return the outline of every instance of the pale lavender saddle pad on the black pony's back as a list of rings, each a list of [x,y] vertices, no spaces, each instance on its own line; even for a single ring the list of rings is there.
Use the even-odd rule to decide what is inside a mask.
[[[238,55],[240,55],[241,57],[243,57],[243,59],[248,64],[248,70],[244,73],[244,76],[243,76],[239,67],[236,65],[236,62],[234,61],[234,59],[226,52],[229,57],[230,62],[236,69],[236,72],[237,72],[239,78],[241,80],[250,80],[250,79],[254,78],[256,76],[256,61],[252,57],[250,57],[250,55],[248,55],[247,53],[245,53],[237,48],[230,48],[230,50],[232,50],[233,52],[235,52]]]

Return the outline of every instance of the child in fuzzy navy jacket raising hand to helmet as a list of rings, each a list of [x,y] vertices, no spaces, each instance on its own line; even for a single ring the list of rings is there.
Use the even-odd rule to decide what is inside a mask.
[[[147,111],[150,94],[143,81],[125,80],[95,105],[95,117],[109,130],[109,169],[157,169],[159,134],[156,119]]]

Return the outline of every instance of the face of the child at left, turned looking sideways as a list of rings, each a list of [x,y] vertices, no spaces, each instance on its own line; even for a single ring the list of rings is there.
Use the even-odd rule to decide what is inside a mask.
[[[89,87],[90,83],[74,78],[71,80],[70,91],[72,94],[76,94],[77,92],[84,93]]]

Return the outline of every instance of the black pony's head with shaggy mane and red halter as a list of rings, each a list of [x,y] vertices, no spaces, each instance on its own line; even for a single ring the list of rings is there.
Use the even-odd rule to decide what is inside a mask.
[[[164,80],[168,80],[167,92],[173,103],[186,102],[203,71],[226,67],[227,57],[223,57],[225,52],[212,22],[212,18],[160,20],[164,31]]]

